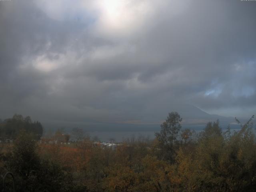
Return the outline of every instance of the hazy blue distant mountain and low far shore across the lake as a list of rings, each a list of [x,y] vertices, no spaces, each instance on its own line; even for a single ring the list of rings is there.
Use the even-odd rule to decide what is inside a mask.
[[[236,124],[235,117],[224,117],[214,114],[208,114],[196,106],[190,104],[175,104],[171,105],[169,112],[178,112],[182,118],[182,127],[195,130],[202,130],[208,122],[216,120],[220,121],[222,128],[226,128],[231,124],[233,128],[239,128]],[[164,115],[157,114],[156,119],[152,121],[130,120],[126,122],[45,122],[44,127],[56,130],[64,128],[68,131],[74,127],[83,128],[86,131],[158,131],[160,124],[165,120]],[[167,114],[166,114],[167,116]],[[250,117],[248,117],[249,119]],[[162,119],[162,120],[160,120]],[[248,119],[240,119],[240,122],[245,123]]]

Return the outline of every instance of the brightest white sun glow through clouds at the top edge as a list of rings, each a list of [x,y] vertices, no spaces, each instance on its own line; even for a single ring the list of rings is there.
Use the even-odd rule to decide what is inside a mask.
[[[100,35],[114,36],[131,34],[143,27],[156,6],[147,0],[42,0],[36,4],[50,18],[58,21],[94,18],[94,27]]]

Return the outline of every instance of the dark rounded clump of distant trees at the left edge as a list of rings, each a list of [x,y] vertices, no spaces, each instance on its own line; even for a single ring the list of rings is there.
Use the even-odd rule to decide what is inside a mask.
[[[0,138],[15,139],[21,130],[33,133],[36,139],[40,139],[43,134],[42,124],[38,121],[32,122],[30,116],[14,114],[12,118],[0,121]]]

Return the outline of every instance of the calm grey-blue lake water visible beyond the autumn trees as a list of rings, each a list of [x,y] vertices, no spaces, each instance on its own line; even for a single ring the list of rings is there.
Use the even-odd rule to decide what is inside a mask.
[[[64,126],[65,125],[65,126]],[[182,129],[189,128],[190,130],[195,130],[196,132],[200,132],[205,128],[205,124],[201,125],[188,125],[183,124]],[[57,129],[63,130],[66,134],[71,134],[72,128],[79,127],[82,128],[86,133],[90,135],[90,138],[98,137],[100,141],[110,141],[110,139],[114,139],[115,142],[122,142],[127,138],[149,138],[154,139],[155,132],[160,132],[160,125],[133,125],[133,124],[90,124],[87,126],[84,125],[76,125],[76,124],[45,124],[45,132],[54,132]],[[220,124],[222,130],[224,131],[227,128],[227,124]],[[232,130],[239,130],[240,126],[237,124],[231,125]]]

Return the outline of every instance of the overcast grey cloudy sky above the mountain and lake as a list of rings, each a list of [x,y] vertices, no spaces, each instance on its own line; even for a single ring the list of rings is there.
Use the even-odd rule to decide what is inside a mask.
[[[256,112],[256,1],[0,1],[0,118]]]

